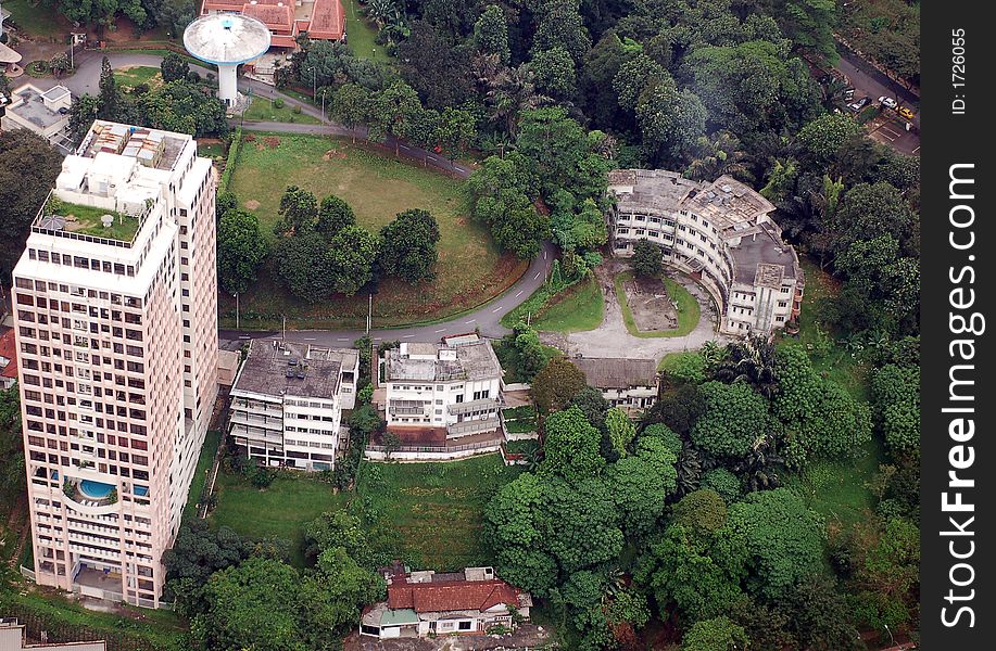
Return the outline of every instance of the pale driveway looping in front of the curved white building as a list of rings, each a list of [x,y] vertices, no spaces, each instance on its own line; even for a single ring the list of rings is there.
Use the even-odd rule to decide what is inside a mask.
[[[639,337],[626,329],[622,308],[616,301],[615,277],[629,266],[621,259],[608,259],[595,270],[602,295],[605,298],[605,317],[602,324],[587,332],[571,334],[541,333],[540,339],[554,345],[570,357],[629,357],[660,359],[668,353],[697,350],[708,341],[723,343],[728,337],[716,332],[716,307],[709,294],[695,281],[678,273],[670,277],[680,282],[697,301],[702,316],[698,324],[685,336]]]

